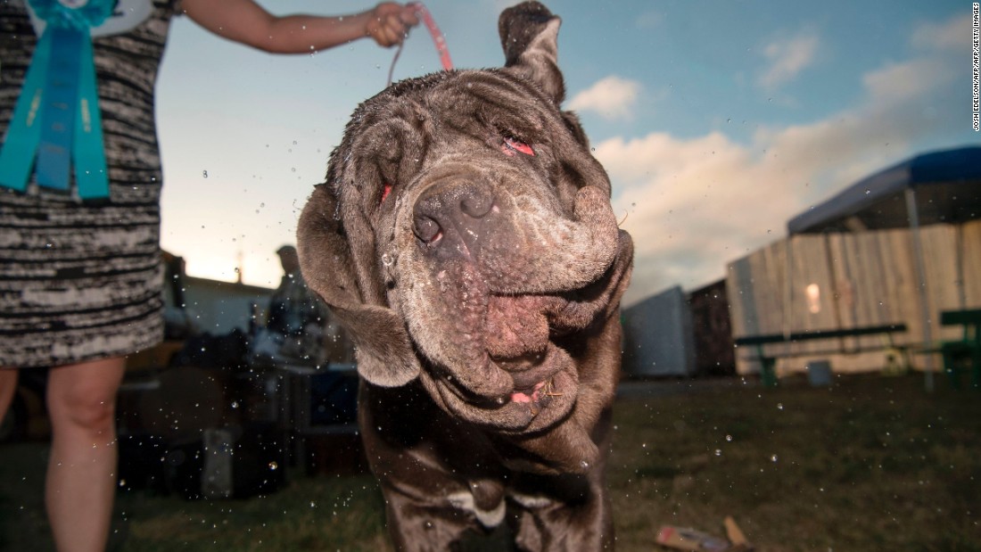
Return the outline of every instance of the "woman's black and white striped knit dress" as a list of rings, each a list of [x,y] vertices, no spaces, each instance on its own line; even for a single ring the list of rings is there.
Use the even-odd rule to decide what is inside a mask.
[[[110,200],[0,186],[0,367],[127,355],[163,337],[161,167],[153,97],[177,0],[121,0],[93,29]],[[24,0],[0,0],[0,135],[36,43]],[[32,177],[33,178],[33,177]]]

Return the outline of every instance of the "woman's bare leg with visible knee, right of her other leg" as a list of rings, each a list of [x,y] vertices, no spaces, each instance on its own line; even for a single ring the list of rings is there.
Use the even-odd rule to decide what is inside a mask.
[[[47,404],[51,459],[45,486],[59,552],[103,552],[116,493],[116,392],[126,360],[52,369]]]

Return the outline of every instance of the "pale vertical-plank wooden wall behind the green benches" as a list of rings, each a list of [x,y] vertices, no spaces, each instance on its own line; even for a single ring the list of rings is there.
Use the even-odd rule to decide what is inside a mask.
[[[920,229],[926,271],[927,305],[921,303],[912,233],[908,229],[795,235],[774,242],[728,267],[726,288],[733,335],[783,333],[904,323],[903,344],[923,343],[924,313],[931,339],[954,338],[958,329],[938,324],[942,310],[981,308],[981,221]],[[807,286],[819,297],[808,300]],[[802,370],[809,360],[829,359],[836,371],[878,370],[885,353],[824,354],[882,342],[878,336],[771,345],[770,352],[813,353],[781,360],[779,371]],[[788,349],[791,348],[791,349]],[[737,371],[754,373],[758,364],[737,351]],[[927,358],[914,355],[922,368]],[[939,369],[939,359],[933,358]]]

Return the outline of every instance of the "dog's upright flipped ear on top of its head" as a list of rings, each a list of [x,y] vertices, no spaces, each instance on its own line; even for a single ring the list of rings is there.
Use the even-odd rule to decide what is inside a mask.
[[[558,27],[562,20],[539,2],[523,2],[501,12],[497,22],[504,67],[536,82],[561,105],[565,83],[558,69]]]

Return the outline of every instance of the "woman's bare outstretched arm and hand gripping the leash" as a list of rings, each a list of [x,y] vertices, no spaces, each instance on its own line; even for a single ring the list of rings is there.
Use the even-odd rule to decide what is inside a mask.
[[[338,17],[277,17],[253,0],[183,0],[181,6],[187,17],[219,36],[278,54],[308,54],[365,36],[391,46],[419,23],[414,8],[394,2]]]

